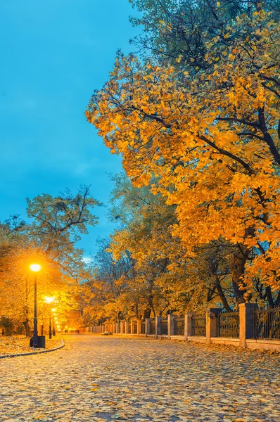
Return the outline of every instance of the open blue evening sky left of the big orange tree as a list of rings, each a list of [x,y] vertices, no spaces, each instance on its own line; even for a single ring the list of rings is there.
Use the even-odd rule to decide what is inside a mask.
[[[11,0],[0,2],[0,220],[25,217],[25,198],[56,196],[91,184],[106,203],[106,173],[122,170],[84,117],[94,89],[108,78],[118,48],[132,50],[139,32],[128,0]],[[112,225],[98,226],[79,247],[89,256]]]

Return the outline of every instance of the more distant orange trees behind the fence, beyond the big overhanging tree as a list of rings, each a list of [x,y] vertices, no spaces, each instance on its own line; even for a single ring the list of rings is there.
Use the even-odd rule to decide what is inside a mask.
[[[86,324],[182,314],[211,302],[227,310],[236,307],[232,271],[238,247],[221,239],[188,256],[172,235],[174,205],[153,195],[151,186],[132,186],[125,174],[112,179],[108,217],[117,217],[117,229],[110,239],[98,241],[92,279],[82,286]]]

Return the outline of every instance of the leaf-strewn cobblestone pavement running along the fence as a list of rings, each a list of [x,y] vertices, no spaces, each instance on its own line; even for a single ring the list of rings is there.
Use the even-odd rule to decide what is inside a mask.
[[[65,336],[0,361],[0,421],[280,421],[279,355],[193,343]]]

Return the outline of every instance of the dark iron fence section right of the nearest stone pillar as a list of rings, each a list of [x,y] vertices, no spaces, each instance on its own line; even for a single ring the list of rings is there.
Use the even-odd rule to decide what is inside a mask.
[[[253,338],[280,338],[280,307],[252,310]]]

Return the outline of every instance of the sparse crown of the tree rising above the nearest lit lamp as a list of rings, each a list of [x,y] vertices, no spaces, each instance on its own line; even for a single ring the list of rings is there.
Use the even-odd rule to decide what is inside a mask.
[[[97,205],[100,203],[91,196],[89,186],[81,186],[75,195],[66,189],[56,197],[43,194],[32,200],[27,198],[27,216],[32,223],[25,226],[25,233],[70,271],[77,264],[76,255],[81,261],[82,251],[75,249],[80,234],[87,234],[87,226],[97,223],[91,213]]]

